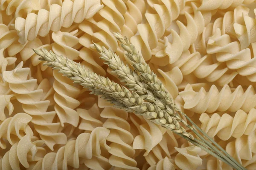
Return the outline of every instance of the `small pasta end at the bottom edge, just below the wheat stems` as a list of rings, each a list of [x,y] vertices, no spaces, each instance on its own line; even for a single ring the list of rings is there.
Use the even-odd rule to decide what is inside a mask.
[[[177,148],[178,154],[175,156],[175,164],[181,170],[195,170],[202,164],[202,159],[198,155],[201,152],[200,147],[191,146]]]

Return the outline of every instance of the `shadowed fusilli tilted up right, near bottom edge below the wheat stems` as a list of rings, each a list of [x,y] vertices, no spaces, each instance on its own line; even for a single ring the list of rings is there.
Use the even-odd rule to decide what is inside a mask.
[[[163,135],[162,141],[157,144],[145,159],[150,166],[158,164],[163,159],[170,159],[172,154],[177,152],[174,148],[178,147],[178,142],[171,131],[166,131]],[[160,166],[160,165],[159,165]]]

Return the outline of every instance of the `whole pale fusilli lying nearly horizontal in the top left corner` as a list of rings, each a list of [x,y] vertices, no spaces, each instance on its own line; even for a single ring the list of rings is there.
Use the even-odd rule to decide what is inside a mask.
[[[99,0],[64,0],[62,6],[52,4],[50,10],[40,9],[38,14],[30,13],[26,19],[17,17],[15,29],[19,42],[34,40],[38,35],[45,37],[50,30],[57,32],[61,27],[70,27],[73,22],[81,23],[101,9]]]

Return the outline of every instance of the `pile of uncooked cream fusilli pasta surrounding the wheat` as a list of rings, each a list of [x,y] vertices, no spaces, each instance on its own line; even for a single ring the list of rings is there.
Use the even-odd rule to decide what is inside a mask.
[[[93,45],[131,63],[115,32],[134,44],[179,109],[256,170],[254,1],[0,0],[0,170],[233,170],[73,84],[32,50],[119,82]]]

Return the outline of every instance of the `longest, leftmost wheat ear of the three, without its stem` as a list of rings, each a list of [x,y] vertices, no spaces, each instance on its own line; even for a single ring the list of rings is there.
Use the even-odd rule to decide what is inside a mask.
[[[52,69],[57,69],[58,72],[69,77],[74,83],[88,88],[92,91],[91,94],[102,95],[102,98],[113,103],[114,107],[142,115],[155,124],[194,139],[191,134],[187,133],[186,130],[180,126],[177,118],[171,116],[174,115],[171,108],[166,107],[166,113],[168,114],[164,114],[157,104],[144,102],[143,98],[136,92],[130,92],[126,87],[85,69],[80,63],[71,61],[63,56],[55,55],[52,51],[48,52],[46,49],[34,50],[34,52],[41,56],[39,60],[47,61],[44,65],[50,66]],[[160,118],[158,115],[164,116]]]

